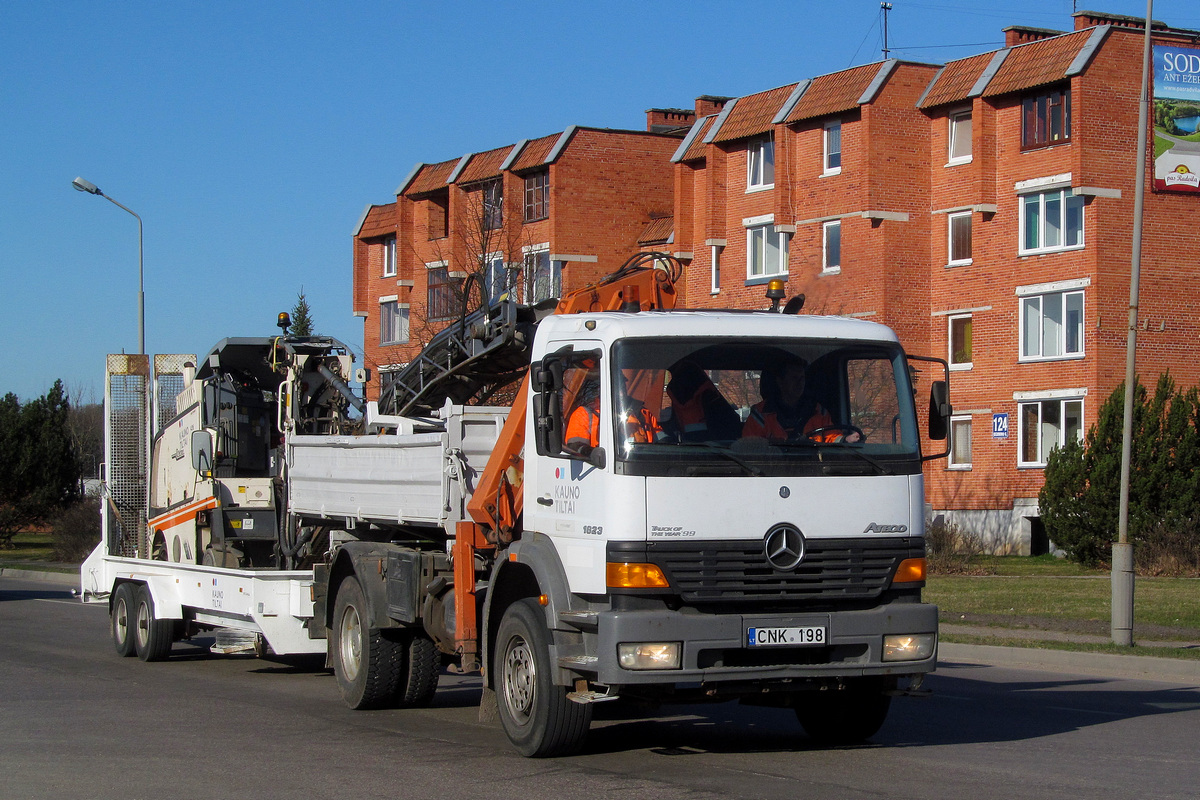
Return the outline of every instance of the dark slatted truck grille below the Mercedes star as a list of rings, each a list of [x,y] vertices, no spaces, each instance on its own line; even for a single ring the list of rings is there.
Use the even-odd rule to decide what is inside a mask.
[[[652,542],[648,560],[666,572],[684,602],[858,600],[877,597],[896,565],[924,555],[922,540],[808,540],[794,570],[775,570],[761,540]]]

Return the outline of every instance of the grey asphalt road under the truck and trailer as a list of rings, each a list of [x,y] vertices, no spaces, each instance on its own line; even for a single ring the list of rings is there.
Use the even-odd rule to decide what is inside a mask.
[[[350,711],[317,661],[120,658],[107,612],[0,578],[0,799],[1195,798],[1200,687],[944,663],[871,745],[817,750],[787,711],[598,708],[586,752],[516,756],[478,680]]]

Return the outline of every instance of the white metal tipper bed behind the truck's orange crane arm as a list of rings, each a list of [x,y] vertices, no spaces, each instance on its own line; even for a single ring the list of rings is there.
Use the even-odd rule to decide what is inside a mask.
[[[288,438],[288,510],[344,524],[452,525],[500,435],[508,408],[446,405],[445,431]]]

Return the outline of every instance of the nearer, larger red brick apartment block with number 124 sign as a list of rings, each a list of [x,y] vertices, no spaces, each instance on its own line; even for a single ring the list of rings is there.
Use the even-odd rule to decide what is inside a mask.
[[[953,363],[953,452],[934,513],[1039,552],[1046,456],[1124,377],[1140,20],[1009,28],[944,67],[884,61],[702,114],[673,156],[690,306],[755,307],[787,279],[806,312],[894,327]],[[1195,31],[1158,25],[1156,43]],[[1150,154],[1146,167],[1150,168]],[[1195,194],[1147,194],[1139,372],[1200,381]]]

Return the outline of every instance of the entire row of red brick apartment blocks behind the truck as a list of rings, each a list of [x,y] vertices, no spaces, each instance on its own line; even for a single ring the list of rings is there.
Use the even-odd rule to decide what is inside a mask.
[[[1008,28],[1004,48],[944,66],[892,60],[703,96],[694,113],[650,112],[647,133],[571,128],[420,164],[355,235],[367,362],[412,357],[430,325],[418,320],[443,314],[439,287],[481,254],[486,283],[526,300],[638,247],[684,261],[690,307],[763,307],[781,277],[806,313],[887,324],[911,353],[952,362],[952,455],[926,468],[930,510],[1000,552],[1043,552],[1046,457],[1124,377],[1139,166],[1141,20],[1074,20]],[[1156,23],[1153,41],[1200,65],[1196,31]],[[1182,142],[1196,168],[1177,170],[1193,180],[1198,139],[1151,137],[1140,166]],[[1147,190],[1144,383],[1168,369],[1200,383],[1198,194]]]

